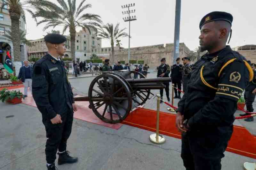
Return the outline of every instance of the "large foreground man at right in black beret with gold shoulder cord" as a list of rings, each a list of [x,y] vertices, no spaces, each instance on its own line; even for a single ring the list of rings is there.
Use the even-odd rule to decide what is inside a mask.
[[[181,158],[185,168],[220,170],[233,133],[237,101],[253,78],[246,59],[226,46],[233,17],[211,12],[199,25],[201,50],[187,92],[178,103],[176,127],[182,132]]]

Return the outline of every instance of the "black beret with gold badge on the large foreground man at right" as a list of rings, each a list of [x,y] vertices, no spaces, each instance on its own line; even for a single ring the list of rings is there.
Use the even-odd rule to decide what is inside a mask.
[[[207,15],[205,15],[199,24],[199,28],[201,30],[202,26],[208,22],[212,22],[212,21],[227,21],[230,25],[232,25],[232,21],[233,21],[233,16],[230,13],[227,12],[220,12],[220,11],[214,11],[211,12]]]

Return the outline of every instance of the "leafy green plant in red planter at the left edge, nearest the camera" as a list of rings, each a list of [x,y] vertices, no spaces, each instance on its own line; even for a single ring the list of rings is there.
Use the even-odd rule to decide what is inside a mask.
[[[21,103],[21,98],[25,98],[20,91],[8,91],[6,88],[0,91],[0,100],[11,104]]]

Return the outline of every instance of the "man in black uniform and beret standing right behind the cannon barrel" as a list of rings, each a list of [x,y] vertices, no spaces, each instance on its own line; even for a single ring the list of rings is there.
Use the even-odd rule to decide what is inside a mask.
[[[162,58],[161,59],[161,65],[158,66],[158,71],[157,71],[157,77],[169,77],[169,74],[170,74],[170,66],[168,64],[165,63],[166,60],[165,58]],[[165,82],[164,83],[165,85],[165,93],[166,93],[166,97],[167,97],[167,100],[170,101],[170,97],[169,97],[169,82]],[[163,99],[163,92],[164,90],[161,89],[160,90],[160,95],[161,95],[161,99]],[[162,103],[163,101],[161,100],[160,103]]]

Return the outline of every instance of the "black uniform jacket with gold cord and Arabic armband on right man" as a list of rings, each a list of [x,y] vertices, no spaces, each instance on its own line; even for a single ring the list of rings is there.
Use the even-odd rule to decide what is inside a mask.
[[[231,137],[237,100],[253,76],[248,65],[246,59],[229,46],[202,56],[194,64],[187,92],[177,109],[188,119],[191,133]]]

